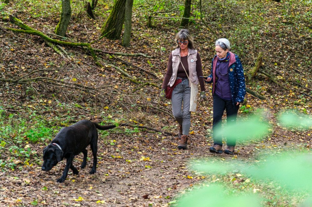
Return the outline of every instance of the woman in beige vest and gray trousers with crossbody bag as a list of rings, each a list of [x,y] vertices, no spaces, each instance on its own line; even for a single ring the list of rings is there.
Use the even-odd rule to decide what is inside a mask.
[[[179,123],[178,138],[180,143],[178,149],[186,149],[188,144],[188,133],[191,127],[190,98],[191,89],[189,81],[200,85],[201,101],[206,100],[205,84],[202,78],[202,62],[199,53],[194,49],[193,37],[189,30],[180,30],[175,37],[177,48],[169,55],[167,72],[164,76],[160,99],[165,99],[165,90],[168,85],[172,87],[178,83],[172,92],[172,113]],[[183,66],[184,68],[183,68]],[[185,70],[184,70],[185,69]],[[188,77],[190,80],[188,80]],[[182,109],[183,104],[183,109]]]

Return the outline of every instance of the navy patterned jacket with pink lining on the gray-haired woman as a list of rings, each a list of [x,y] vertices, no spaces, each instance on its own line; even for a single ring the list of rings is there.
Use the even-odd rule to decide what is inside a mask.
[[[243,66],[241,65],[241,60],[234,53],[230,53],[229,59],[229,69],[228,76],[230,82],[230,90],[232,96],[233,106],[236,105],[236,102],[242,103],[244,101],[244,97],[246,95],[246,85],[245,85],[245,76],[243,71]],[[212,84],[212,95],[215,92],[216,85],[216,65],[217,65],[218,57],[215,55],[212,58],[211,63],[211,74],[208,77],[211,77],[212,80],[206,83]]]

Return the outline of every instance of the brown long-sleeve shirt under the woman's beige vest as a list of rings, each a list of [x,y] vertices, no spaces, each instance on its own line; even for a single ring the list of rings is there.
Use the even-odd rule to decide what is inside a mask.
[[[197,73],[197,77],[198,77],[198,81],[199,81],[199,85],[200,85],[200,90],[204,91],[205,90],[205,84],[204,84],[204,80],[203,78],[200,78],[199,76],[202,76],[202,61],[200,59],[199,53],[197,52],[197,61],[196,61],[196,73]],[[188,73],[188,56],[184,56],[181,57],[181,62],[183,63],[183,66],[185,67],[186,72]],[[189,74],[188,74],[189,75]],[[166,89],[167,85],[170,81],[170,78],[172,76],[172,54],[170,53],[169,55],[169,61],[168,61],[168,66],[167,66],[167,72],[163,78],[163,85],[162,85],[162,89]],[[185,71],[181,65],[181,63],[179,64],[178,67],[178,74],[177,77],[179,78],[185,78],[187,77],[185,74]]]

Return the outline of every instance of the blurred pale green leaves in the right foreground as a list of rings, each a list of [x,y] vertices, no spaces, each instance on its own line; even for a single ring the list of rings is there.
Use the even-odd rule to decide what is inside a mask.
[[[231,120],[231,119],[229,119]],[[309,129],[311,117],[295,112],[280,113],[280,125],[297,129]],[[219,125],[215,131],[217,136],[227,139],[236,138],[242,143],[262,139],[269,132],[270,125],[261,113],[250,115],[245,120]],[[260,155],[262,156],[262,155]],[[223,162],[221,159],[193,160],[190,165],[197,174],[224,175],[240,172],[260,183],[274,182],[289,191],[303,192],[308,199],[301,206],[312,206],[312,154],[310,151],[285,151],[280,154],[263,155],[261,162],[245,162],[232,160]],[[239,176],[241,176],[239,174]],[[238,175],[238,174],[236,174]],[[236,180],[236,179],[234,179]],[[250,179],[246,179],[250,182]],[[227,188],[212,184],[207,187],[196,187],[177,200],[177,206],[262,206],[263,198],[256,194],[244,195],[227,192]],[[259,189],[254,189],[259,190]],[[256,192],[254,191],[254,193]]]

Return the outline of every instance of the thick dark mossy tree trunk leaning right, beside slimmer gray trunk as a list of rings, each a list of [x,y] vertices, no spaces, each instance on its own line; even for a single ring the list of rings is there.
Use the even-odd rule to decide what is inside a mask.
[[[122,25],[124,24],[125,5],[126,0],[116,0],[110,12],[110,16],[108,16],[106,22],[102,26],[102,35],[114,29],[113,32],[106,36],[108,39],[119,39]]]

